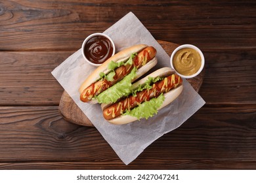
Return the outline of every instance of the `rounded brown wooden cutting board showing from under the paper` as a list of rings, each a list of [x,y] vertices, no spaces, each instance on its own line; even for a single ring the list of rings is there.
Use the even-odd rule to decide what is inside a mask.
[[[169,56],[171,56],[171,53],[175,48],[179,46],[179,44],[175,44],[173,42],[166,42],[166,41],[158,41],[165,52]],[[200,75],[187,79],[188,82],[192,85],[192,87],[198,92],[200,90],[200,87],[203,82],[203,75],[204,75],[204,70]],[[66,91],[63,92],[62,97],[60,99],[60,105],[58,107],[58,110],[60,111],[60,114],[62,114],[63,118],[65,120],[68,120],[68,122],[72,122],[74,124],[78,125],[85,125],[85,126],[91,126],[93,127],[93,124],[90,122],[90,120],[83,114],[81,109],[75,104],[73,99],[68,95]]]

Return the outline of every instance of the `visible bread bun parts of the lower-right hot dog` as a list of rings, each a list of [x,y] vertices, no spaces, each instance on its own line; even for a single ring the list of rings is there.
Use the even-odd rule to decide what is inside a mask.
[[[137,89],[141,84],[144,84],[146,82],[146,80],[148,80],[149,77],[153,77],[153,78],[155,78],[157,76],[167,77],[167,76],[170,76],[173,74],[174,74],[174,71],[172,69],[170,69],[169,67],[163,67],[161,69],[158,69],[154,73],[151,73],[150,75],[142,78],[138,82],[135,82],[135,84],[133,84],[133,88]],[[183,86],[182,86],[182,84],[179,84],[176,88],[171,89],[169,92],[163,93],[163,96],[165,99],[164,99],[163,103],[161,104],[161,106],[158,107],[157,110],[160,110],[161,108],[169,105],[173,100],[175,100],[181,94],[182,90],[183,90]],[[106,112],[107,108],[110,106],[111,105],[101,105],[102,111]],[[133,109],[131,109],[131,110],[133,110]],[[135,122],[136,120],[138,120],[138,118],[136,118],[136,117],[129,116],[129,115],[121,115],[121,116],[118,116],[111,120],[108,120],[108,122],[110,122],[112,124],[121,125],[121,124],[128,124],[131,122]]]

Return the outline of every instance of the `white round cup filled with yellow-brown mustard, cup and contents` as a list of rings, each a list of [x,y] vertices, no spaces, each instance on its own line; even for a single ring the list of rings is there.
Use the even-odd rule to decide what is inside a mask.
[[[202,51],[192,44],[182,44],[171,54],[171,67],[182,78],[193,78],[203,70],[205,60]]]

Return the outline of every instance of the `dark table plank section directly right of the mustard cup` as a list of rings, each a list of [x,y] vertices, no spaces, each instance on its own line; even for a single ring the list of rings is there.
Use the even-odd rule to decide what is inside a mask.
[[[207,104],[256,103],[256,52],[207,50],[200,95]]]

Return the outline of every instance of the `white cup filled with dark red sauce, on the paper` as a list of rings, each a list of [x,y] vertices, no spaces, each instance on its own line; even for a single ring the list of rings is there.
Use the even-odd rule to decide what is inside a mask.
[[[94,66],[99,66],[114,56],[116,47],[112,39],[103,33],[93,33],[83,41],[81,48],[83,58]]]

